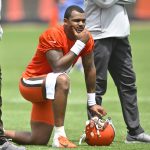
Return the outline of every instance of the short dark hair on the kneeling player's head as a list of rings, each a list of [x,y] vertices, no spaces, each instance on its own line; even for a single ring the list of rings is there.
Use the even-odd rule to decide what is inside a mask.
[[[72,11],[74,11],[74,10],[76,10],[80,13],[84,13],[84,10],[81,7],[79,7],[77,5],[71,5],[66,9],[65,14],[64,14],[64,18],[69,19]]]

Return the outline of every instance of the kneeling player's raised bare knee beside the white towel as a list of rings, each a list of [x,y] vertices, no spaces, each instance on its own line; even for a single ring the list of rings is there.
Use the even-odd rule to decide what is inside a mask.
[[[70,87],[70,79],[67,74],[61,74],[57,78],[57,86],[61,87],[63,90],[68,91]]]

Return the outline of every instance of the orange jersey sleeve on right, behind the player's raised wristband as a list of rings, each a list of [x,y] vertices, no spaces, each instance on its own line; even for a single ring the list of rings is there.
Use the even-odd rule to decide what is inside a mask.
[[[90,34],[90,33],[89,33]],[[89,41],[87,42],[85,48],[82,50],[81,52],[81,57],[91,53],[93,51],[93,48],[94,48],[94,40],[93,40],[93,37],[92,35],[90,34],[90,39]]]

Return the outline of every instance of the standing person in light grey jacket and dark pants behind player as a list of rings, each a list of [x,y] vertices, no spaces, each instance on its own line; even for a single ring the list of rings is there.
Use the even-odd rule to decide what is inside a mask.
[[[130,24],[125,5],[134,2],[135,0],[85,0],[86,28],[95,41],[96,102],[102,104],[109,71],[118,90],[128,130],[126,143],[150,142],[150,135],[140,125],[136,76],[128,40]],[[90,116],[90,110],[88,113]]]

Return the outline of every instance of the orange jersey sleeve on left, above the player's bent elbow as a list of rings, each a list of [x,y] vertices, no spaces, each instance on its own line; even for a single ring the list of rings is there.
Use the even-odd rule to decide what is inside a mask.
[[[38,48],[41,52],[47,52],[48,50],[61,50],[61,36],[56,30],[47,30],[39,37]]]

